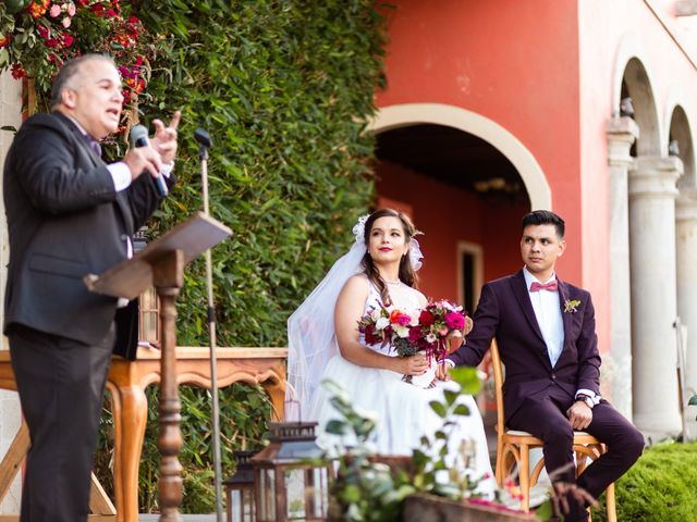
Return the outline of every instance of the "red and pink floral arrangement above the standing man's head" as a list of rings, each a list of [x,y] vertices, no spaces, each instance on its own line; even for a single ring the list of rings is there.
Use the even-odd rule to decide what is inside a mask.
[[[8,0],[0,5],[0,71],[33,79],[39,95],[50,91],[66,60],[103,52],[113,57],[123,78],[124,117],[135,117],[154,49],[140,21],[126,15],[120,0]],[[121,130],[129,124],[123,123]]]

